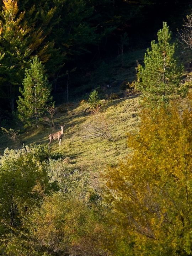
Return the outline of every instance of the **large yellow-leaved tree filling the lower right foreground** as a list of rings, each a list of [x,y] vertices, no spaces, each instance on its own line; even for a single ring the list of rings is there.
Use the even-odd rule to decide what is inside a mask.
[[[107,175],[122,235],[115,255],[192,255],[191,98],[188,103],[182,111],[176,103],[143,110],[139,133],[128,139],[132,154]]]

